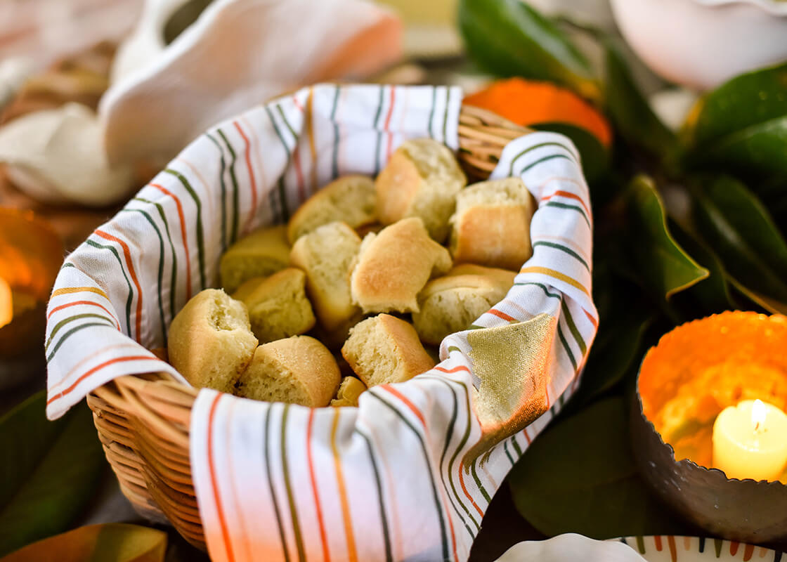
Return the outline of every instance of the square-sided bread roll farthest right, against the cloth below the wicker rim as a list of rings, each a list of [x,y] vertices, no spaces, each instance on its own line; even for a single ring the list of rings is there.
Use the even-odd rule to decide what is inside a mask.
[[[493,179],[460,191],[451,217],[454,261],[519,271],[533,255],[530,219],[535,206],[519,178]]]

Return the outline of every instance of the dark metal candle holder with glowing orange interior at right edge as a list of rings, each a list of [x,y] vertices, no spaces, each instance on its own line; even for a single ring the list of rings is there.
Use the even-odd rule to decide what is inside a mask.
[[[716,417],[741,401],[787,410],[787,317],[723,312],[664,335],[642,361],[631,411],[634,457],[667,504],[711,534],[787,540],[787,469],[778,480],[714,468]]]

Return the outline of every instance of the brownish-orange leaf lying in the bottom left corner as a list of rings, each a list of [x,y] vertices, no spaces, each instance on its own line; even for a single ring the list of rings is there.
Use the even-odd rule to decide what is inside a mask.
[[[163,531],[126,523],[105,523],[79,527],[34,542],[0,562],[55,559],[58,562],[163,562],[166,550],[167,534]]]

